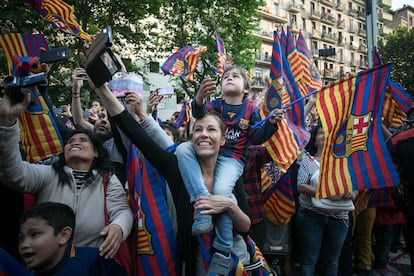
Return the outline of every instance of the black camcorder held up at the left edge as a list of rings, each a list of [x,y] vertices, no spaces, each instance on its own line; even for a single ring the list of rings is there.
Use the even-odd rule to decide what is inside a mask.
[[[30,86],[36,84],[47,84],[46,73],[40,72],[25,77],[8,76],[3,80],[3,88],[16,102],[21,102],[26,94],[32,93]],[[34,103],[35,100],[31,99]]]

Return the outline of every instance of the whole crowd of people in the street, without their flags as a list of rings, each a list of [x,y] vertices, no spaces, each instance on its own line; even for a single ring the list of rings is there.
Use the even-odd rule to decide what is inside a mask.
[[[84,82],[97,95],[89,111],[81,103]],[[142,206],[132,206],[130,191],[135,183],[131,183],[127,163],[134,150],[164,180],[166,192],[156,197],[168,206],[165,223],[173,229],[179,260],[176,271],[169,274],[235,275],[239,263],[246,271],[254,269],[249,268],[254,260],[246,237],[252,237],[257,250],[263,251],[268,230],[262,171],[278,170],[262,143],[281,131],[278,125],[285,111],[273,110],[270,119],[253,130],[249,126],[261,120],[261,103],[249,98],[245,70],[226,66],[221,97],[207,101],[216,85],[209,76],[200,83],[191,104],[190,131],[183,135],[174,125],[177,114],[165,122],[156,118],[155,107],[162,100],[157,90],[144,107],[142,95],[127,92],[120,100],[107,84],[96,87],[86,71],[78,68],[72,74],[72,101],[56,114],[65,137],[63,152],[50,162],[38,163],[24,161],[19,146],[18,118],[31,95],[17,101],[4,93],[0,100],[0,188],[1,196],[16,200],[13,206],[1,208],[7,236],[0,240],[5,250],[0,251],[0,262],[13,263],[7,258],[11,255],[22,264],[19,275],[136,274],[136,267],[127,267],[118,258],[122,245],[137,235],[136,228],[145,219],[137,212]],[[314,103],[315,97],[309,98],[305,108],[312,122]],[[314,200],[321,152],[327,145],[322,126],[317,122],[309,126],[310,141],[294,163],[296,213],[289,222],[292,244],[289,258],[283,259],[282,275],[296,275],[295,270],[304,276],[393,275],[389,252],[393,241],[401,240],[401,233],[405,247],[400,249],[410,253],[410,275],[414,275],[413,126],[411,108],[400,133],[388,139],[401,185],[382,191],[394,200],[380,207],[369,204],[378,192],[374,190],[327,199],[342,207],[322,206]],[[272,181],[280,176],[280,172],[271,174]],[[23,210],[23,194],[34,197],[34,207],[26,205]],[[211,238],[208,244],[202,242],[205,237]],[[131,244],[129,253],[136,266],[135,240]],[[269,252],[263,253],[268,261],[272,258]],[[271,273],[269,264],[261,264],[261,269]]]

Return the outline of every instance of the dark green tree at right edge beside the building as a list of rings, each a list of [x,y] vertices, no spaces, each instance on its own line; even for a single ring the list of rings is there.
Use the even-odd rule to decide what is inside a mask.
[[[414,28],[399,26],[385,41],[379,41],[378,49],[383,62],[392,62],[391,79],[414,96]]]

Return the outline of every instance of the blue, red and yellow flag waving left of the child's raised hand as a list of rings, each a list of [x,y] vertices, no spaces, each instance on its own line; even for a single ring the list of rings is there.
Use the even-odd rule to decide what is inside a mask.
[[[197,69],[198,57],[205,51],[207,51],[207,47],[196,49],[186,45],[172,53],[161,66],[161,69],[164,74],[170,74],[195,82],[193,73]]]

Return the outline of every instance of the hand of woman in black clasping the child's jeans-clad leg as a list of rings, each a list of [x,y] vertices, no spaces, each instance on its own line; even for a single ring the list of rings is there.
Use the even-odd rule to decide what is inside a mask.
[[[234,202],[222,195],[200,196],[194,202],[194,209],[202,209],[201,214],[213,215],[229,211]]]

